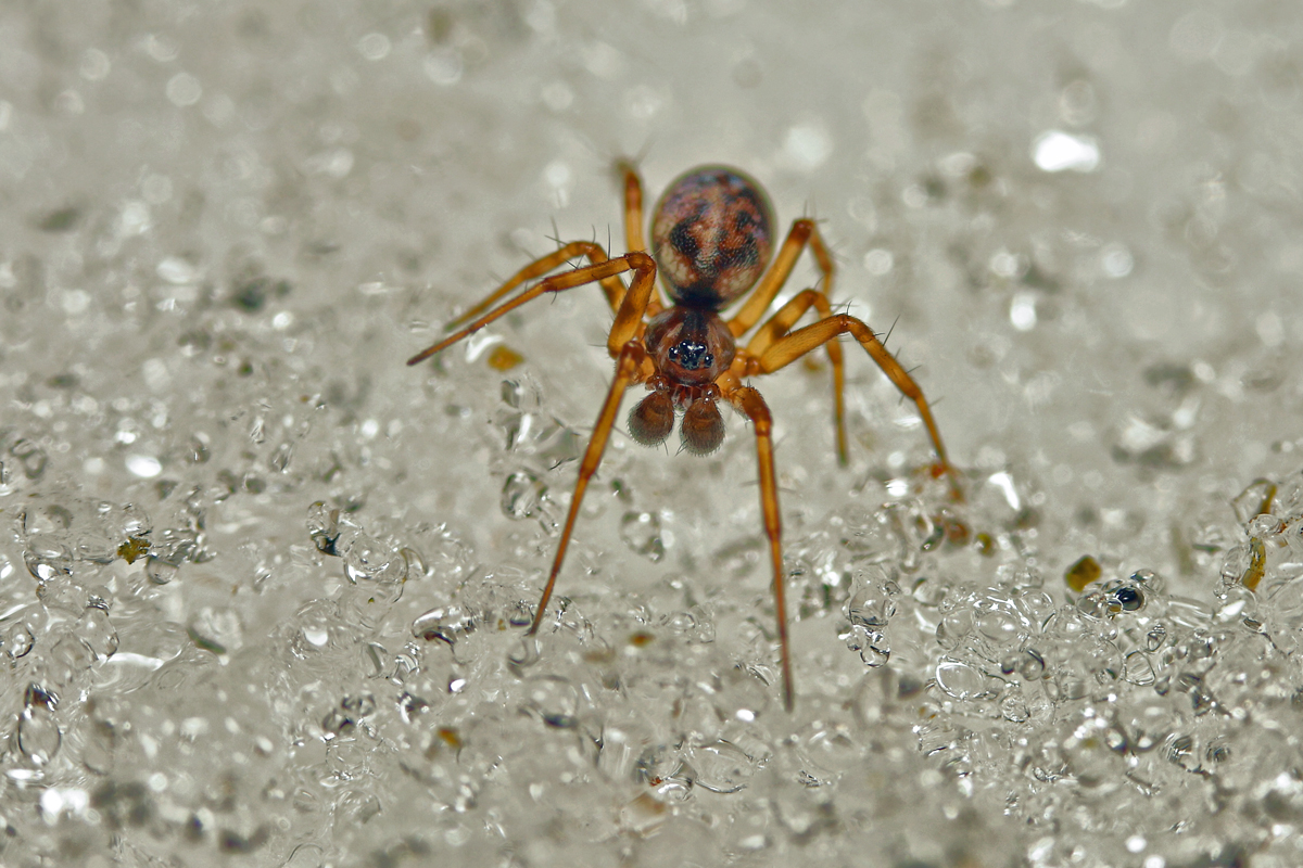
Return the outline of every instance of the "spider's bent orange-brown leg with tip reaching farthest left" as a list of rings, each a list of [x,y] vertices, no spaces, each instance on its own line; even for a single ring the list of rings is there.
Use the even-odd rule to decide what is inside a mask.
[[[568,271],[563,275],[552,275],[546,280],[541,280],[515,298],[511,298],[487,314],[483,314],[473,323],[461,327],[434,346],[417,353],[408,359],[408,364],[423,362],[435,353],[452,346],[468,334],[478,332],[485,325],[489,325],[521,305],[538,298],[543,293],[559,293],[567,289],[575,289],[576,286],[584,286],[586,284],[602,282],[607,278],[612,278],[619,284],[620,281],[615,276],[623,275],[627,271],[633,272],[633,286],[628,293],[624,293],[624,285],[620,284],[622,299],[616,307],[615,323],[611,325],[611,333],[607,337],[607,350],[611,353],[611,358],[615,358],[619,355],[620,347],[637,334],[638,327],[642,323],[642,315],[648,307],[648,301],[652,297],[652,290],[655,289],[655,263],[653,263],[652,258],[644,252],[629,252],[623,256],[618,256],[616,259],[607,259],[605,262],[585,265],[584,268],[576,268],[575,271]]]

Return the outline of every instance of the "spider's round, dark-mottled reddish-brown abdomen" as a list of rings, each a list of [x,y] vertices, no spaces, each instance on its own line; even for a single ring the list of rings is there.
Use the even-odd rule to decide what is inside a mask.
[[[753,180],[711,165],[680,176],[652,219],[652,255],[675,305],[721,310],[751,289],[773,252],[769,200]]]

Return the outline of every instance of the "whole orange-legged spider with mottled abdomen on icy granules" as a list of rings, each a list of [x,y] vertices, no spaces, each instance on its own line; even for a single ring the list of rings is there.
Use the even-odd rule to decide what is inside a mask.
[[[560,544],[528,635],[537,632],[547,610],[584,492],[602,461],[625,389],[644,384],[650,392],[628,416],[629,435],[646,446],[665,442],[679,418],[683,448],[693,454],[706,455],[719,448],[724,436],[719,402],[727,402],[745,415],[756,429],[760,506],[774,569],[783,701],[791,711],[794,687],[787,640],[773,418],[760,392],[744,385],[743,380],[773,373],[810,350],[826,347],[833,368],[837,454],[839,463],[844,466],[844,380],[842,345],[837,338],[850,333],[900,393],[917,406],[937,452],[938,463],[933,467],[933,474],[947,474],[954,497],[960,498],[956,474],[946,458],[941,433],[919,384],[887,353],[878,336],[863,320],[833,312],[829,305],[833,258],[813,220],[803,217],[792,223],[774,264],[769,267],[774,247],[774,220],[761,186],[737,169],[700,167],[679,176],[662,194],[652,213],[652,254],[648,255],[642,236],[642,182],[632,167],[620,168],[624,174],[624,237],[628,252],[609,259],[606,251],[593,242],[573,241],[560,246],[555,252],[517,271],[487,298],[450,324],[450,328],[460,327],[457,331],[413,355],[408,364],[430,358],[545,293],[598,284],[615,314],[606,341],[606,349],[615,359],[615,377],[584,452]],[[737,338],[749,332],[770,308],[805,249],[809,249],[822,273],[822,290],[805,289],[797,293],[756,329],[745,347],[740,347]],[[588,259],[588,264],[545,277],[507,298],[519,286],[580,258]],[[627,272],[632,272],[628,288],[619,277]],[[657,275],[661,276],[668,303],[657,290]],[[748,292],[751,297],[732,318],[723,319],[721,311]],[[792,331],[810,307],[820,319]]]

